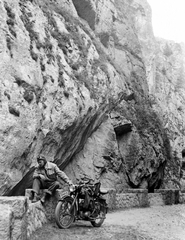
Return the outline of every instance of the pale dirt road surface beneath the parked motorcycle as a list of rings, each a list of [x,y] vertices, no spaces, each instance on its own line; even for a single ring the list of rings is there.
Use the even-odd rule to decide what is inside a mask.
[[[100,228],[75,222],[69,229],[55,223],[38,230],[32,240],[185,240],[185,205],[155,206],[110,212]]]

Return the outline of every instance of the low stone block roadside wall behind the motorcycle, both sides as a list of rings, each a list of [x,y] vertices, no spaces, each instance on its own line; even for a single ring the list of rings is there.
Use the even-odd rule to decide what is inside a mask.
[[[44,204],[32,203],[31,189],[26,189],[25,196],[0,197],[0,239],[31,240],[32,234],[47,222],[54,222],[54,212],[58,200],[66,194],[66,189],[58,189],[53,197]],[[109,189],[105,195],[109,211],[172,205],[185,203],[185,191],[177,189],[156,189],[148,193],[146,189],[125,189],[116,193]]]

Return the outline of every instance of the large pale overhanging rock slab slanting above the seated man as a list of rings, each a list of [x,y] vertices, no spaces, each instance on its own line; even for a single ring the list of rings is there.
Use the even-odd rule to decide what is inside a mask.
[[[23,178],[15,190],[23,194],[40,152],[64,168],[130,90],[88,25],[65,8],[47,1],[0,6],[0,189]]]

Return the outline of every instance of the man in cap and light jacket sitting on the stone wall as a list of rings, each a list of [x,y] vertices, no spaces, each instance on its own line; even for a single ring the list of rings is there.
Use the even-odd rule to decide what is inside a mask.
[[[58,177],[69,185],[72,185],[72,181],[68,176],[61,171],[55,163],[48,162],[43,155],[37,158],[37,162],[38,166],[33,174],[32,202],[37,202],[39,200],[38,194],[40,189],[43,189],[43,196],[40,201],[44,203],[46,195],[52,195],[54,191],[60,187]]]

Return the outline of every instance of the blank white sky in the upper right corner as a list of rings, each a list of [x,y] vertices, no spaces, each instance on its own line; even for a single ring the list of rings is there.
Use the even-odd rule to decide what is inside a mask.
[[[156,37],[185,43],[185,0],[147,0]]]

